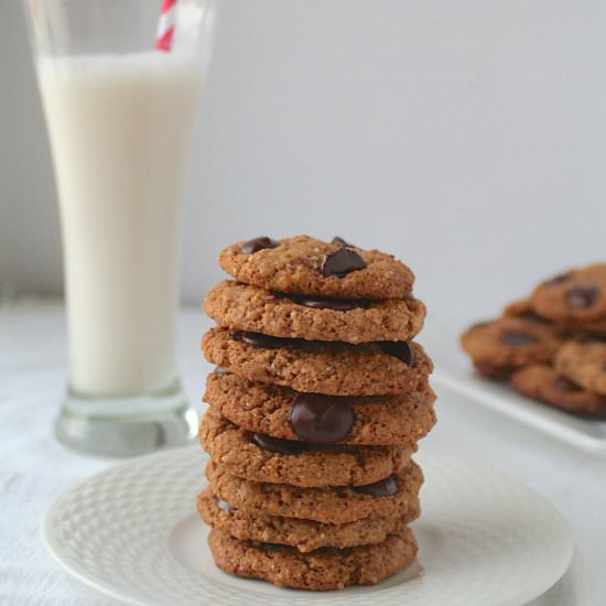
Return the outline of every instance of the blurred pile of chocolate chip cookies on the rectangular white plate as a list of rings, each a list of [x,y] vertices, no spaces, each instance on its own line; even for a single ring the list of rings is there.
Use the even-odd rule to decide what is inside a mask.
[[[606,264],[540,283],[461,344],[481,376],[565,412],[606,418]]]

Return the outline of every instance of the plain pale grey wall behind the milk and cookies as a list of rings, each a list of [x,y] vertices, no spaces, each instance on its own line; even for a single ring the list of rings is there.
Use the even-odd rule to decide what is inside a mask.
[[[0,35],[0,282],[62,288],[19,2]],[[442,317],[605,259],[606,2],[223,0],[188,183],[183,295],[235,239],[401,256]]]

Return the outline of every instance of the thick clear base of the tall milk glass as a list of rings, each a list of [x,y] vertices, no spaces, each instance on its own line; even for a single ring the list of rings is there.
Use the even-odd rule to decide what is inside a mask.
[[[198,421],[178,380],[155,393],[123,398],[89,397],[69,389],[55,435],[80,453],[137,456],[193,443]]]

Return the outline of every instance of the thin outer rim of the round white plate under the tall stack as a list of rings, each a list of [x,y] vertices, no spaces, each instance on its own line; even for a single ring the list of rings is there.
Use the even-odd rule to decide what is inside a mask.
[[[62,559],[62,553],[61,553],[62,548],[57,543],[56,538],[53,534],[53,519],[54,519],[55,512],[61,509],[63,502],[66,499],[69,499],[69,497],[73,493],[77,491],[82,486],[85,486],[86,484],[88,484],[90,480],[93,480],[95,478],[98,478],[98,477],[107,475],[107,474],[116,474],[116,473],[119,473],[120,470],[122,470],[125,468],[129,468],[131,466],[137,466],[138,464],[140,464],[140,462],[142,459],[147,461],[148,464],[149,464],[150,459],[154,459],[154,458],[160,459],[160,458],[164,458],[164,457],[171,457],[171,456],[175,456],[176,454],[187,455],[188,453],[192,453],[192,454],[195,453],[196,455],[201,456],[202,458],[207,458],[207,456],[208,456],[208,455],[206,455],[206,453],[199,451],[199,446],[185,446],[185,447],[180,447],[180,448],[171,448],[171,450],[167,450],[167,451],[161,451],[161,452],[158,452],[158,453],[143,455],[143,456],[133,458],[132,461],[129,461],[129,462],[126,462],[126,463],[122,463],[122,464],[119,464],[119,465],[115,465],[112,467],[109,467],[108,469],[105,469],[102,472],[99,472],[97,474],[88,476],[86,478],[83,478],[83,479],[76,481],[71,488],[68,488],[67,490],[64,490],[62,494],[59,494],[52,501],[48,509],[45,511],[45,513],[42,518],[41,527],[40,527],[40,537],[41,537],[41,540],[42,540],[42,544],[45,548],[45,550],[48,552],[51,558],[58,564],[58,566],[64,572],[66,572],[71,576],[73,576],[75,580],[82,582],[85,586],[87,586],[90,589],[95,591],[97,594],[104,595],[105,597],[111,598],[111,599],[113,599],[118,603],[129,604],[129,605],[132,605],[132,606],[153,606],[154,604],[161,605],[162,603],[143,602],[143,600],[140,600],[139,598],[125,596],[122,593],[117,592],[110,583],[104,582],[104,581],[98,581],[96,578],[90,578],[89,576],[87,576],[87,571],[84,566],[79,566],[78,564],[73,564],[73,563]],[[547,497],[544,497],[543,495],[541,495],[540,493],[533,490],[532,488],[530,488],[529,486],[527,486],[522,481],[519,481],[518,479],[512,478],[511,476],[509,476],[507,474],[502,474],[500,472],[495,472],[494,469],[491,469],[489,467],[478,465],[475,462],[470,463],[470,462],[468,462],[464,458],[453,458],[453,457],[448,457],[448,456],[445,456],[445,455],[442,455],[442,454],[433,454],[431,452],[430,453],[426,453],[426,452],[425,453],[420,453],[420,454],[415,455],[415,458],[420,463],[421,466],[428,465],[428,464],[431,465],[431,466],[433,466],[433,465],[437,466],[437,465],[440,465],[440,462],[450,462],[451,464],[456,463],[458,465],[463,465],[464,467],[466,467],[469,470],[477,470],[477,472],[479,472],[484,475],[490,475],[495,478],[502,478],[508,484],[516,485],[518,488],[521,488],[522,490],[531,494],[533,498],[542,501],[543,506],[548,507],[552,511],[554,517],[559,520],[559,522],[561,524],[561,528],[562,528],[564,534],[565,534],[565,539],[566,539],[566,545],[565,545],[566,547],[566,554],[565,554],[565,558],[564,556],[562,558],[562,565],[556,571],[554,571],[554,573],[551,575],[551,578],[549,581],[549,585],[545,584],[545,586],[543,586],[542,588],[537,588],[533,592],[528,592],[526,595],[521,596],[522,602],[516,600],[516,602],[495,603],[495,606],[522,606],[523,604],[527,604],[527,603],[540,597],[545,592],[551,589],[555,585],[555,583],[558,583],[562,578],[562,576],[566,573],[566,571],[569,570],[569,567],[571,565],[571,562],[572,562],[572,559],[573,559],[574,552],[575,552],[574,535],[573,535],[572,529],[571,529],[570,524],[567,523],[565,517],[562,515],[562,512]],[[425,462],[423,459],[425,459]],[[390,594],[392,594],[393,588],[386,589],[386,592],[389,592]],[[325,604],[326,602],[325,600],[323,602],[324,597],[326,597],[326,596],[324,596],[324,595],[318,596],[318,598],[315,599],[314,596],[310,596],[310,605],[313,605],[314,603]],[[371,597],[372,596],[369,595],[369,598],[371,598]],[[393,597],[394,600],[396,600],[393,604],[398,603],[397,602],[397,599],[398,599],[397,596],[386,595],[385,597]],[[342,604],[342,603],[345,603],[344,600],[346,600],[346,599],[347,599],[347,596],[334,595],[333,598],[331,598],[331,602],[334,603],[334,604]]]

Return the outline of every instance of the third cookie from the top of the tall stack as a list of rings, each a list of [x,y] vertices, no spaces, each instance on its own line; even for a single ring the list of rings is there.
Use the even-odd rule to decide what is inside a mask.
[[[423,348],[407,342],[348,345],[214,327],[204,335],[203,350],[208,361],[239,377],[329,396],[412,392],[432,371]]]

